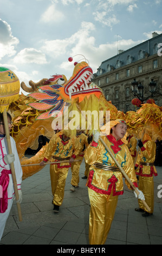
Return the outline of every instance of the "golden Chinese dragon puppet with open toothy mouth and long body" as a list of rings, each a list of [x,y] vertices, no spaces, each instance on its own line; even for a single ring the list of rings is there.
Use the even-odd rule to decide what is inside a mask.
[[[150,123],[150,127],[158,132],[159,138],[162,137],[160,107],[155,104],[147,104],[145,107],[144,104],[140,111],[124,114],[118,111],[111,101],[106,101],[101,88],[91,81],[92,77],[93,70],[86,62],[81,62],[74,66],[73,75],[69,80],[64,75],[54,75],[49,80],[43,78],[38,83],[29,81],[31,88],[25,86],[24,82],[21,83],[21,87],[29,94],[20,95],[20,98],[10,105],[14,121],[11,136],[15,139],[21,164],[40,163],[47,145],[30,159],[25,159],[25,150],[28,147],[36,149],[38,136],[43,135],[50,139],[56,130],[64,130],[70,137],[75,136],[78,129],[92,135],[93,129],[100,130],[107,121],[124,119],[128,129],[137,133],[138,129],[146,125],[147,119],[147,124]],[[150,115],[146,111],[148,105]],[[90,125],[85,113],[90,115]],[[97,116],[101,113],[101,124],[100,119],[92,118],[93,113],[97,113]],[[154,120],[158,126],[154,125]],[[42,168],[22,167],[23,179]]]

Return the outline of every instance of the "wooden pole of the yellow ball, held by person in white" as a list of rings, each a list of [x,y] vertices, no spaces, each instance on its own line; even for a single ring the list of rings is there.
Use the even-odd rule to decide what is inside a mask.
[[[6,109],[3,111],[3,121],[4,121],[4,127],[5,127],[5,136],[7,138],[7,144],[8,144],[8,152],[9,152],[9,154],[12,154],[10,133],[9,133],[9,124],[8,124],[8,117],[7,117]],[[15,191],[15,197],[16,197],[16,203],[17,203],[18,218],[19,218],[19,221],[22,221],[20,203],[17,202],[19,199],[19,196],[18,196],[18,190],[17,190],[17,181],[16,181],[14,162],[10,163],[10,166],[11,166],[12,181],[14,184],[14,191]]]

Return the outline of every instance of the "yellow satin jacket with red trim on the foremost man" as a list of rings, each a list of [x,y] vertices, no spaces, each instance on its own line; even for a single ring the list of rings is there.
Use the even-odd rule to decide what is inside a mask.
[[[102,139],[107,144],[108,148],[111,149],[115,159],[121,164],[122,169],[124,169],[129,179],[131,179],[135,187],[138,187],[133,160],[127,145],[125,145],[121,139],[116,141],[112,135],[102,136]],[[100,141],[99,143],[93,141],[88,146],[85,152],[85,161],[90,164],[89,176],[86,184],[89,188],[101,194],[111,194],[111,191],[113,190],[113,196],[118,196],[124,193],[124,184],[122,173],[120,171],[112,172],[93,166],[95,162],[105,164],[106,166],[116,166],[108,151]],[[128,188],[131,188],[127,181],[126,185]]]

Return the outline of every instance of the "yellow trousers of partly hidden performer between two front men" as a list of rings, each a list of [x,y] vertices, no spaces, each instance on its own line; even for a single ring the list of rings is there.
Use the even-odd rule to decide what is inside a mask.
[[[71,184],[73,186],[77,186],[79,184],[79,170],[83,160],[83,156],[77,156],[75,160],[80,160],[80,161],[73,162],[71,164],[71,170],[72,170]]]

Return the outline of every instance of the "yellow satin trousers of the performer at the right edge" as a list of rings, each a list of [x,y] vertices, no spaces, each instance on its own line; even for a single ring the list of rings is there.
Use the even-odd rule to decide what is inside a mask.
[[[151,211],[149,212],[150,214],[153,213],[153,208],[154,208],[154,181],[153,181],[153,176],[152,177],[144,177],[144,176],[139,176],[139,190],[141,190],[144,193],[145,196],[145,202],[147,205],[150,207]],[[145,208],[144,204],[142,204],[141,200],[138,199],[139,207],[147,211],[148,210]]]

